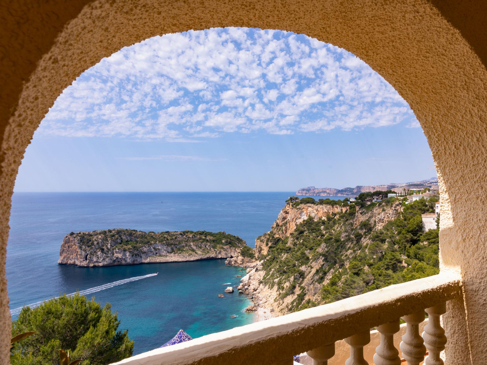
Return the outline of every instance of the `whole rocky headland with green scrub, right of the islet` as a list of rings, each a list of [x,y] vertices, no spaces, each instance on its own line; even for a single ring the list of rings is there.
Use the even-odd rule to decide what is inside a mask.
[[[423,232],[421,214],[434,199],[404,204],[389,198],[337,205],[289,201],[271,230],[256,239],[237,288],[246,311],[277,316],[387,285],[437,274],[438,231]]]

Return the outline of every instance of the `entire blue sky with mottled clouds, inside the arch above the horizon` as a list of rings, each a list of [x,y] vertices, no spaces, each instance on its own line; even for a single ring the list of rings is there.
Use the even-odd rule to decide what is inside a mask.
[[[408,104],[356,56],[282,31],[153,37],[56,100],[15,191],[293,191],[435,175]]]

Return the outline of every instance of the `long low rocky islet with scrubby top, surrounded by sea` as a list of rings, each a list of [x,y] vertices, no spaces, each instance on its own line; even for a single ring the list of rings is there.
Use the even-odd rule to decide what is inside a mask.
[[[62,241],[58,264],[92,267],[227,258],[239,255],[244,246],[243,239],[225,232],[72,232]]]

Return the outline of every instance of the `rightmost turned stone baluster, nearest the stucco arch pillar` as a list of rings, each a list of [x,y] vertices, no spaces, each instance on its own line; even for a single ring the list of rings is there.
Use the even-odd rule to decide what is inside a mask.
[[[422,334],[426,348],[428,348],[425,365],[443,365],[440,353],[445,349],[447,337],[445,336],[445,330],[441,328],[440,315],[447,311],[446,303],[438,304],[425,311],[429,315],[428,324]]]

